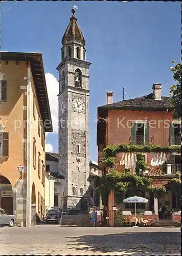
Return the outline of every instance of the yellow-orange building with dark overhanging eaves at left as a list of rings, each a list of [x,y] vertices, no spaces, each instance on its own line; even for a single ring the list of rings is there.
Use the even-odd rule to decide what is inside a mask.
[[[40,53],[1,52],[1,207],[16,224],[44,215],[45,132],[52,132]]]

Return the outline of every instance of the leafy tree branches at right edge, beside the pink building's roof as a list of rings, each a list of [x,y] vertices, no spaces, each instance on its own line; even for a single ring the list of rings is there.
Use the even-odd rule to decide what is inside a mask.
[[[175,60],[172,61],[175,63]],[[170,102],[174,106],[173,117],[181,118],[181,74],[182,74],[182,63],[178,62],[174,67],[170,67],[171,72],[173,72],[173,79],[176,82],[170,88]]]

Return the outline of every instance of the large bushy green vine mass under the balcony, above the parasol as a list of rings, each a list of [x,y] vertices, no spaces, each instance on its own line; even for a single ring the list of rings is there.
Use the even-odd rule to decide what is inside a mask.
[[[124,195],[141,196],[144,191],[149,191],[152,180],[146,176],[137,176],[129,172],[118,173],[111,170],[108,174],[100,179],[97,189],[101,196],[108,196],[110,189],[113,189],[116,201],[122,202]]]

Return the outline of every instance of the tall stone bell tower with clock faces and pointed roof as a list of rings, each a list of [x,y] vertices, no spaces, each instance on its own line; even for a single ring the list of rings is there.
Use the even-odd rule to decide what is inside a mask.
[[[89,74],[85,39],[72,9],[62,38],[59,71],[59,172],[65,177],[63,208],[89,201]]]

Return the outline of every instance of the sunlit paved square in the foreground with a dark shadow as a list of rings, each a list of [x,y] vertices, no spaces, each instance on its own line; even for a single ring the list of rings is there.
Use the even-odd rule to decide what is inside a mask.
[[[180,228],[1,228],[0,254],[180,255]]]

